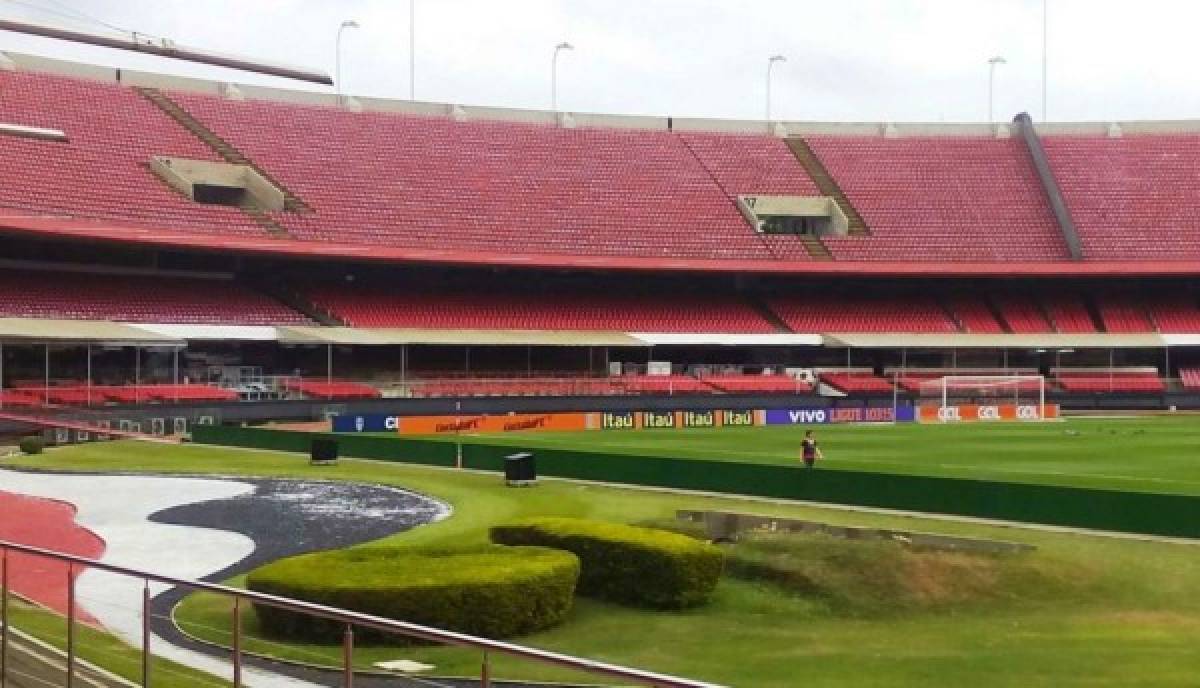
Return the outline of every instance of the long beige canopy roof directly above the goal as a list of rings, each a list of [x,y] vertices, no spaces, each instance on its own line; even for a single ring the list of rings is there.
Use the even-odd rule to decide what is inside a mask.
[[[1158,334],[829,334],[827,347],[838,348],[1162,348]]]

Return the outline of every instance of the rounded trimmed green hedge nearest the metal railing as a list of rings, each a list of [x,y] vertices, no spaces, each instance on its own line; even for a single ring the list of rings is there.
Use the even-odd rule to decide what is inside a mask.
[[[498,639],[562,622],[578,576],[575,555],[544,548],[359,548],[280,560],[252,572],[246,587]],[[328,642],[342,636],[338,623],[260,604],[254,611],[268,633]]]

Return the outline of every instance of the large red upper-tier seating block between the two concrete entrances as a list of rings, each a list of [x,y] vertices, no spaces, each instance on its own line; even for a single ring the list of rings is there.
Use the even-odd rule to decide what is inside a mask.
[[[312,207],[311,214],[272,214],[300,239],[480,252],[770,257],[671,132],[174,97]]]

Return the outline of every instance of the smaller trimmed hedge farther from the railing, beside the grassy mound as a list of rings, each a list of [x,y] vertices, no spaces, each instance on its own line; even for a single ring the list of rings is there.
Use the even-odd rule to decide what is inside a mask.
[[[542,518],[496,526],[492,542],[540,545],[580,557],[580,593],[654,609],[703,604],[725,554],[676,533],[583,519]]]

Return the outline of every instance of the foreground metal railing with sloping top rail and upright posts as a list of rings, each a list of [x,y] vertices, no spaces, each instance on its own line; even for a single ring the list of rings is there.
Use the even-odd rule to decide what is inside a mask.
[[[8,641],[10,641],[8,568],[11,558],[10,552],[19,552],[23,555],[44,557],[66,564],[67,609],[66,609],[66,642],[65,642],[65,654],[66,654],[65,686],[67,686],[67,688],[72,688],[78,663],[77,647],[76,647],[77,645],[76,623],[78,614],[77,609],[78,603],[74,593],[74,578],[76,578],[76,572],[82,572],[83,569],[102,570],[142,581],[142,611],[140,611],[142,614],[140,684],[142,686],[151,684],[152,654],[150,652],[150,639],[151,639],[150,603],[152,596],[150,594],[150,584],[155,582],[155,584],[166,584],[168,586],[179,586],[191,591],[204,591],[233,599],[233,605],[230,611],[233,642],[229,651],[232,653],[230,658],[232,658],[233,684],[238,688],[242,686],[242,665],[245,654],[242,651],[242,623],[241,623],[244,603],[251,603],[253,605],[272,606],[276,609],[282,609],[298,614],[306,614],[313,617],[344,624],[344,632],[342,635],[342,666],[341,666],[341,686],[343,686],[343,688],[352,688],[354,684],[353,658],[354,658],[355,627],[371,629],[385,634],[401,635],[409,639],[418,639],[438,645],[449,645],[449,646],[476,650],[481,653],[479,684],[484,688],[492,686],[493,681],[492,656],[515,657],[539,664],[559,666],[594,676],[602,676],[605,678],[616,678],[626,683],[632,683],[635,686],[649,686],[655,688],[721,688],[719,684],[715,683],[692,681],[688,678],[680,678],[677,676],[655,674],[652,671],[642,671],[640,669],[632,669],[628,666],[620,666],[617,664],[608,664],[604,662],[572,657],[569,654],[560,654],[557,652],[550,652],[546,650],[538,650],[534,647],[515,645],[500,640],[478,638],[463,633],[455,633],[451,630],[443,630],[428,626],[383,618],[379,616],[360,614],[343,609],[336,609],[310,602],[289,599],[272,594],[264,594],[260,592],[253,592],[247,590],[239,590],[229,586],[223,586],[220,584],[174,578],[146,570],[114,566],[96,560],[90,560],[86,557],[68,555],[30,545],[23,545],[7,540],[0,540],[0,688],[4,688],[6,684],[7,669],[10,666],[8,662]]]

